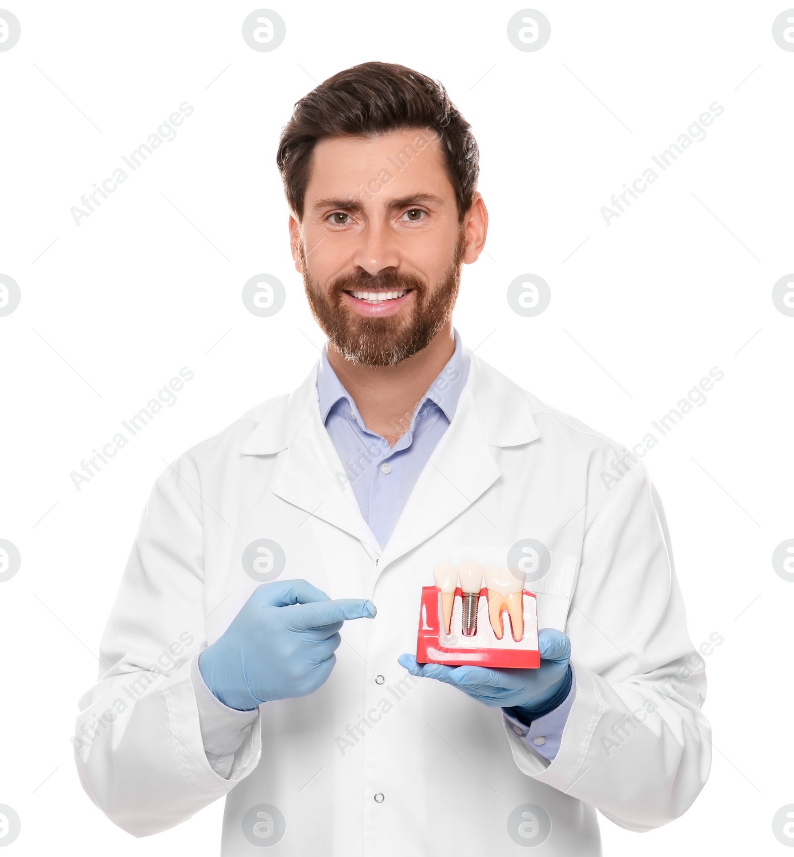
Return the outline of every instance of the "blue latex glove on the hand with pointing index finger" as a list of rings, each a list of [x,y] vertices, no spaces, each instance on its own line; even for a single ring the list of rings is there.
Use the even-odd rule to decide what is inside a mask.
[[[334,668],[342,623],[376,612],[375,604],[359,598],[331,601],[305,580],[262,584],[199,655],[199,671],[223,704],[241,711],[306,696]]]

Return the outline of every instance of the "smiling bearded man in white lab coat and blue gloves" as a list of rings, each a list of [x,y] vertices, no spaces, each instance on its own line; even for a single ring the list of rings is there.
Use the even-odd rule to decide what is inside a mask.
[[[488,228],[469,124],[364,63],[298,102],[277,163],[328,345],[155,484],[81,699],[87,793],[135,836],[225,797],[225,855],[583,857],[596,809],[677,818],[711,756],[664,512],[454,330]],[[517,546],[539,668],[417,662],[434,569]]]

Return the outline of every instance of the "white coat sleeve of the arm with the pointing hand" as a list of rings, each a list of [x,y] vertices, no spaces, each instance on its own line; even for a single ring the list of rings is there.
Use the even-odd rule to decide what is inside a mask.
[[[259,717],[227,777],[208,762],[191,662],[207,645],[199,473],[183,456],[155,483],[100,644],[99,683],[80,700],[83,788],[123,830],[148,836],[190,818],[254,770]]]

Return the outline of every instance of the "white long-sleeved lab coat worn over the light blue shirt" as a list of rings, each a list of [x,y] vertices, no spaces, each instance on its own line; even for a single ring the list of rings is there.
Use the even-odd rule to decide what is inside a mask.
[[[226,797],[222,854],[238,855],[260,853],[242,825],[267,804],[286,819],[273,854],[338,857],[524,854],[548,833],[538,806],[550,833],[537,853],[583,857],[601,853],[595,808],[629,830],[685,812],[711,763],[706,682],[642,464],[618,479],[619,446],[472,356],[454,420],[381,549],[340,477],[315,376],[159,476],[102,640],[112,666],[81,699],[75,758],[97,806],[147,836]],[[571,639],[576,679],[551,763],[500,709],[397,663],[416,650],[438,562],[456,545],[527,537],[550,549],[532,589],[540,626]],[[190,669],[256,588],[241,557],[259,538],[284,548],[280,579],[371,598],[378,614],[346,623],[318,691],[260,706],[225,779],[202,746]]]

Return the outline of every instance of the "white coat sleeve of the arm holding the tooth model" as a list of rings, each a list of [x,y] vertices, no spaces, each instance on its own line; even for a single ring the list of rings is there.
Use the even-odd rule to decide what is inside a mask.
[[[705,662],[689,639],[664,512],[643,465],[598,505],[568,614],[576,694],[559,752],[549,763],[507,734],[528,776],[621,827],[652,830],[682,815],[708,777]]]

